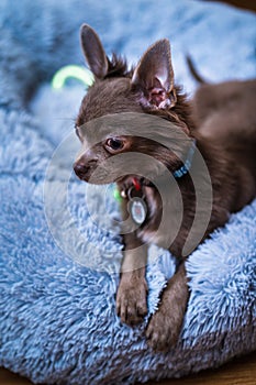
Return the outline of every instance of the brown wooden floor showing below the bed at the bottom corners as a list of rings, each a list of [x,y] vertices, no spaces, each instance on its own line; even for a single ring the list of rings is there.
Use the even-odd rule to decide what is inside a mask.
[[[1,385],[30,385],[22,378],[4,369],[0,369]],[[256,385],[256,352],[234,360],[218,370],[203,371],[197,375],[179,380],[166,380],[147,385]],[[82,384],[81,384],[82,385]],[[93,385],[93,384],[92,384]],[[137,384],[138,385],[138,384]]]

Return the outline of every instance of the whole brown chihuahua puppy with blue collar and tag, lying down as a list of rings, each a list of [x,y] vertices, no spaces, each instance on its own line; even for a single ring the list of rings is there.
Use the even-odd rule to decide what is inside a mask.
[[[148,244],[164,245],[179,261],[146,327],[149,345],[166,351],[178,341],[188,304],[187,256],[256,196],[256,81],[203,85],[189,102],[175,85],[167,40],[153,44],[129,69],[115,54],[107,56],[89,25],[81,26],[80,36],[94,84],[76,120],[82,148],[74,170],[85,182],[115,182],[123,219],[132,223],[123,233],[116,294],[122,322],[133,326],[147,315]],[[115,130],[104,131],[91,144],[89,132],[97,138],[109,117],[111,122],[116,119]],[[134,129],[125,131],[124,121]],[[93,122],[99,124],[92,128]],[[164,128],[164,134],[145,134],[147,125]],[[155,164],[142,162],[143,156]],[[137,161],[132,167],[133,158]],[[104,173],[97,178],[101,166]],[[203,229],[194,230],[196,221],[204,221]]]

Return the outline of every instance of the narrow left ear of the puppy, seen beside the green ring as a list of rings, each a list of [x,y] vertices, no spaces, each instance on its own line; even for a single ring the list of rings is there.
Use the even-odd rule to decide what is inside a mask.
[[[98,34],[89,25],[82,24],[80,40],[89,68],[96,78],[103,79],[108,74],[108,57]]]

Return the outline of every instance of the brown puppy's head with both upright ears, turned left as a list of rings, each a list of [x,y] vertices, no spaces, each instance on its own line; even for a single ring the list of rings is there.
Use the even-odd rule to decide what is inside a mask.
[[[177,153],[169,151],[163,138],[172,138],[177,147],[177,135],[188,133],[189,113],[185,97],[174,85],[169,42],[156,42],[137,66],[129,69],[124,59],[114,54],[110,59],[105,55],[90,26],[82,25],[80,36],[94,82],[81,102],[76,121],[76,132],[82,143],[74,165],[77,176],[94,184],[116,182],[125,176],[127,165],[131,167],[126,175],[159,173],[157,166],[153,170],[147,162],[142,165],[142,156],[135,154],[149,155],[176,168]],[[165,134],[163,130],[159,133],[156,119],[165,125]]]

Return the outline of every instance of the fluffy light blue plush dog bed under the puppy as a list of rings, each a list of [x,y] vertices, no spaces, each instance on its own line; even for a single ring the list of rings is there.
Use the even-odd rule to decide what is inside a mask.
[[[127,1],[3,0],[0,22],[0,365],[34,383],[132,384],[255,350],[256,201],[189,257],[180,340],[154,353],[147,320],[131,329],[115,315],[121,245],[112,187],[86,187],[71,175],[78,148],[71,118],[84,90],[49,84],[59,67],[82,63],[82,22],[99,31],[108,52],[130,59],[169,37],[176,78],[189,92],[196,85],[187,52],[214,81],[252,78],[255,15],[185,0],[160,8],[140,0],[132,9]],[[152,246],[151,314],[174,268],[174,258]]]

